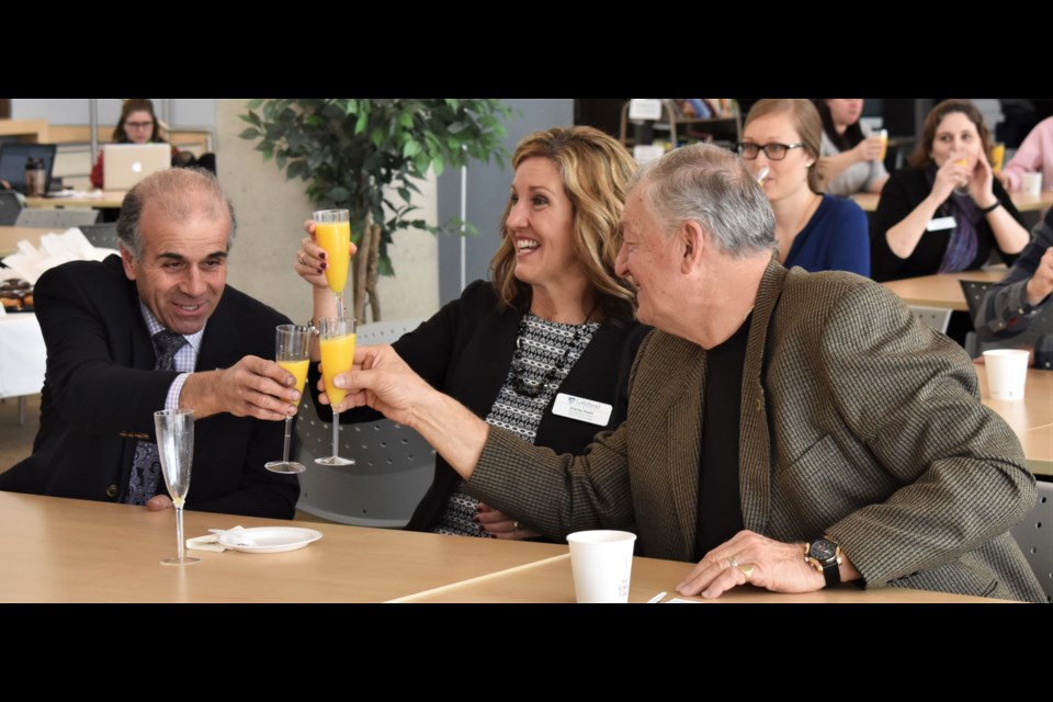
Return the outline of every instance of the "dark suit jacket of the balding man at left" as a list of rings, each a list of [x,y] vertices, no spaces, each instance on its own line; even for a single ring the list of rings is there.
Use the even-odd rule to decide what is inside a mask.
[[[137,437],[155,440],[154,412],[178,374],[152,370],[138,293],[118,257],[52,269],[35,298],[47,346],[41,430],[33,455],[0,475],[0,489],[121,501]],[[247,354],[273,358],[274,327],[287,322],[228,285],[205,327],[197,370]],[[263,468],[281,457],[283,437],[283,422],[226,414],[195,421],[188,509],[292,518],[298,482]]]

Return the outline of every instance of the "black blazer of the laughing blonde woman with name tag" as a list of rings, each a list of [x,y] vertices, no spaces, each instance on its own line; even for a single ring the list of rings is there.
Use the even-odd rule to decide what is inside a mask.
[[[392,346],[433,387],[485,418],[508,376],[522,316],[522,310],[499,306],[490,283],[476,281],[464,290],[460,299],[446,304]],[[648,331],[650,327],[636,321],[607,321],[600,326],[559,392],[611,405],[609,422],[599,427],[553,415],[553,398],[537,427],[536,445],[557,453],[581,453],[598,432],[616,429],[625,420],[629,372],[636,349]],[[331,421],[329,406],[317,401],[317,364],[313,364],[308,385],[315,407],[322,421]],[[369,408],[341,415],[341,419],[349,422],[380,417]],[[435,478],[406,528],[424,531],[438,522],[456,479],[457,474],[450,464],[442,456],[435,456]]]

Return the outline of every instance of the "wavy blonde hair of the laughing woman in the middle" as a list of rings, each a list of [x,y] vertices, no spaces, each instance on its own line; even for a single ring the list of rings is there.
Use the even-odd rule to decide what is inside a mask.
[[[636,162],[618,140],[592,127],[554,127],[526,135],[512,156],[513,168],[529,158],[551,160],[563,178],[574,207],[574,252],[581,262],[596,308],[604,319],[630,320],[635,314],[635,288],[614,273],[622,246],[621,217],[626,183]],[[529,305],[530,285],[516,278],[516,242],[508,231],[511,200],[501,216],[501,246],[490,261],[490,276],[500,301],[511,307]]]

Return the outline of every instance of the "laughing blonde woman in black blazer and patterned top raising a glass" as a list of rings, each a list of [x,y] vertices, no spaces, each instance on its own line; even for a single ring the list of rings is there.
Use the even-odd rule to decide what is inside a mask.
[[[557,452],[580,453],[597,432],[625,419],[629,373],[647,331],[633,318],[634,288],[614,274],[635,162],[610,136],[574,127],[528,135],[512,166],[492,282],[468,285],[392,346],[432,386],[489,423]],[[296,272],[314,286],[316,317],[336,308],[324,253],[313,236],[297,253]],[[328,421],[317,369],[312,377],[319,417]],[[369,408],[347,412],[350,421],[377,417]],[[524,523],[529,516],[512,519],[466,495],[463,480],[437,456],[435,479],[408,528],[536,536]]]

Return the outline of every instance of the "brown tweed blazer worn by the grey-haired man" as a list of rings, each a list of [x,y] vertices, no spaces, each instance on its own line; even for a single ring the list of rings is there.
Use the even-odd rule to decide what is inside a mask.
[[[652,332],[629,416],[585,455],[490,429],[468,491],[550,536],[636,522],[644,555],[691,561],[706,352]],[[851,273],[765,272],[747,340],[739,440],[745,528],[828,535],[867,586],[1039,601],[1008,529],[1035,500],[1008,426],[964,351]],[[802,554],[803,557],[803,554]]]

